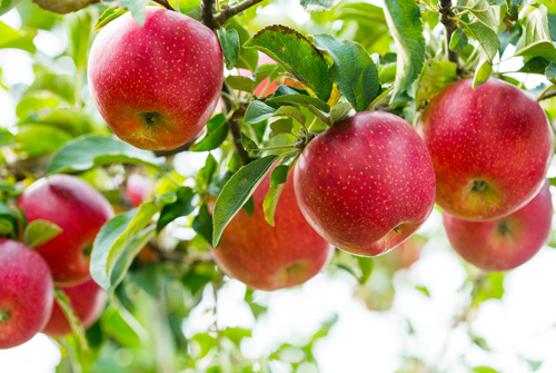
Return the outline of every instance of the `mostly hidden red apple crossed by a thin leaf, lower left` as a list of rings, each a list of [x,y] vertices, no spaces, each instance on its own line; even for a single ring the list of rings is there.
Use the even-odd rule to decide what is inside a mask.
[[[92,279],[73,287],[63,287],[62,291],[68,296],[83,327],[88,328],[95,324],[100,317],[102,310],[105,310],[107,301],[106,292]],[[72,333],[66,315],[56,302],[52,307],[50,320],[42,330],[42,333],[54,337],[61,337]]]

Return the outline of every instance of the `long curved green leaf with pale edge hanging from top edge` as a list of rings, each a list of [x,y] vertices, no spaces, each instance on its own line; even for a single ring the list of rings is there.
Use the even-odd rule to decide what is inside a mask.
[[[404,101],[425,62],[420,10],[413,0],[386,0],[385,17],[396,43],[397,70],[390,102]]]

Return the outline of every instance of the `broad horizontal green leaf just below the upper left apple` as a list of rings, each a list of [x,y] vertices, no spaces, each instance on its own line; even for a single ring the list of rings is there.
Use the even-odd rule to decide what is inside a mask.
[[[145,165],[163,171],[161,167],[165,159],[111,137],[87,135],[66,143],[50,160],[47,173],[85,171],[116,161]]]

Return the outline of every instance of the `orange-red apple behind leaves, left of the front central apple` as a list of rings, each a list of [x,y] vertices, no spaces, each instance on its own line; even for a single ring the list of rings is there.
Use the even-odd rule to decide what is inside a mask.
[[[328,263],[332,253],[332,247],[301,215],[290,176],[276,206],[275,226],[265,220],[262,202],[269,186],[270,174],[252,195],[252,215],[239,210],[224,230],[220,245],[211,248],[216,263],[228,276],[264,291],[305,283]]]

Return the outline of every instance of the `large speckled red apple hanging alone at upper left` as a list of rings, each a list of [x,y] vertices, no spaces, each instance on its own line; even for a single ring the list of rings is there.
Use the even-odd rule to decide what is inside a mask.
[[[210,119],[224,81],[215,33],[202,23],[147,7],[145,26],[128,12],[99,32],[88,79],[100,115],[123,141],[170,150],[192,140]]]

